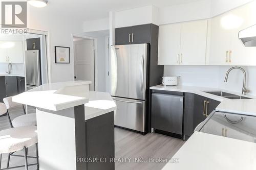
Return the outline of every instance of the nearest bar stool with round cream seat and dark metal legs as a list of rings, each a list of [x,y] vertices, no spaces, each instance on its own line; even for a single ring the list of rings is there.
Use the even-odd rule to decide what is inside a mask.
[[[32,145],[36,145],[36,157],[27,155],[27,148]],[[24,156],[13,154],[20,150],[24,150]],[[5,153],[9,153],[11,156],[24,157],[25,165],[9,167],[8,159],[7,167],[1,168],[2,154]],[[36,158],[36,163],[28,164],[28,158]],[[25,169],[28,170],[28,166],[32,165],[37,165],[37,169],[39,169],[36,126],[16,127],[0,131],[0,169],[25,167]]]

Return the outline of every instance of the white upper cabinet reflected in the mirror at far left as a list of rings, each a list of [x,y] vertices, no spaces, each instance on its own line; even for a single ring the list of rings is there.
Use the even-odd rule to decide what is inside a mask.
[[[23,63],[23,42],[22,41],[13,41],[14,46],[7,48],[8,61],[10,63]]]

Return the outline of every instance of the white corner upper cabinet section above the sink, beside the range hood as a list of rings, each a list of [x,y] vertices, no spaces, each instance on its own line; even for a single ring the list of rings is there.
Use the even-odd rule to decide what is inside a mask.
[[[256,47],[245,47],[239,31],[256,23],[249,5],[231,10],[210,21],[209,65],[256,65]]]

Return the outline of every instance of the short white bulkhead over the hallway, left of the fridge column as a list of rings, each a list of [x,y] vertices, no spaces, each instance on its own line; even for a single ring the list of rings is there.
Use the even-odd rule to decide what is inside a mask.
[[[83,22],[83,32],[109,30],[109,18]]]

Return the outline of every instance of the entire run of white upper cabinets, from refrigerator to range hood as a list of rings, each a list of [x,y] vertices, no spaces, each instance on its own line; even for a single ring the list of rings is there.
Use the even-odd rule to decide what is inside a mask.
[[[256,65],[256,47],[238,38],[256,23],[256,2],[208,20],[159,27],[159,65]]]

